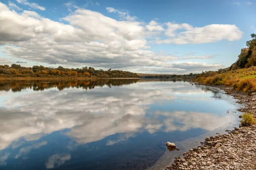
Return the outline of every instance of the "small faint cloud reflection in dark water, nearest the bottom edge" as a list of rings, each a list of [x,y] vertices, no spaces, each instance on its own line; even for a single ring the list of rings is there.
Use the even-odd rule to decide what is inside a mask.
[[[54,156],[49,157],[45,166],[47,169],[52,169],[60,166],[61,164],[64,164],[65,161],[70,160],[70,158],[71,158],[70,154],[56,154]]]

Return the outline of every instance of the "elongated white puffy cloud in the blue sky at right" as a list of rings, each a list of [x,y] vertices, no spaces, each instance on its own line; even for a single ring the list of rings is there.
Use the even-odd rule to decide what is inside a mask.
[[[172,37],[165,40],[157,40],[157,44],[201,44],[217,42],[221,40],[235,41],[240,40],[243,33],[235,25],[212,24],[204,27],[192,27],[189,24],[167,23],[168,26],[165,34]],[[178,34],[178,29],[185,29]]]

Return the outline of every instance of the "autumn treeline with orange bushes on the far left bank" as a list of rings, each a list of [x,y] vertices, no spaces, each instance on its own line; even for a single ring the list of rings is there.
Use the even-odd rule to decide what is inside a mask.
[[[139,78],[136,73],[121,70],[104,71],[102,69],[95,70],[92,67],[83,68],[48,68],[42,65],[34,65],[33,67],[23,67],[21,65],[12,64],[0,65],[0,77],[88,77],[88,78]]]

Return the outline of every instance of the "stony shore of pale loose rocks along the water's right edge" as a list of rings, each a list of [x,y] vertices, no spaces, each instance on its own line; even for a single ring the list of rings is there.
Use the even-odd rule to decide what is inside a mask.
[[[215,86],[224,90],[256,117],[256,96],[233,90],[227,86]],[[228,134],[207,137],[201,146],[184,153],[166,170],[255,170],[256,169],[256,125],[227,130]]]

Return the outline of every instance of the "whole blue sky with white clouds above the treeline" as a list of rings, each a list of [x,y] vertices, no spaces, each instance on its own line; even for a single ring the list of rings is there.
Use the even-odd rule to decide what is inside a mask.
[[[0,0],[0,65],[189,74],[229,67],[256,0]]]

